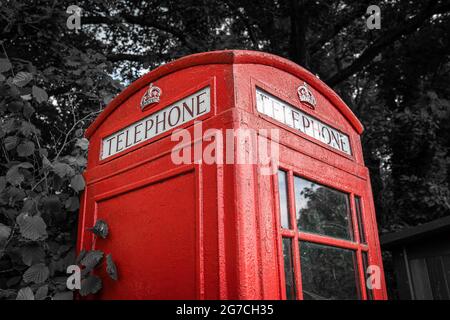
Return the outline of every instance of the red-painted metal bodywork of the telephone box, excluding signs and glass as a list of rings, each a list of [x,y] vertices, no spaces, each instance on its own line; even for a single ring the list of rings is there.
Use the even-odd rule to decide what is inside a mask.
[[[298,100],[296,90],[303,81],[317,98],[315,110]],[[140,99],[150,83],[162,88],[163,94],[158,104],[142,111]],[[299,175],[342,190],[352,200],[354,195],[361,197],[367,245],[358,238],[351,242],[282,230],[276,175],[261,175],[254,164],[176,165],[171,151],[178,142],[171,141],[172,131],[100,160],[103,138],[206,85],[211,89],[211,112],[201,118],[204,131],[281,129],[280,167],[291,178]],[[347,134],[352,155],[258,113],[256,87]],[[191,134],[194,131],[193,121],[181,127]],[[195,54],[138,79],[86,131],[90,147],[77,247],[111,253],[119,270],[117,282],[103,277],[104,288],[97,297],[285,298],[282,235],[353,249],[358,252],[359,267],[361,251],[366,251],[370,263],[382,270],[369,174],[360,143],[362,130],[351,110],[317,77],[266,53]],[[242,150],[235,151],[234,158],[237,152]],[[292,201],[292,182],[289,197]],[[293,210],[290,214],[295,226]],[[86,231],[100,218],[110,226],[107,239],[95,239]],[[294,241],[294,250],[298,250],[296,246],[298,241]],[[300,263],[295,258],[297,289],[301,289]],[[364,285],[360,269],[359,274]],[[384,279],[374,296],[386,298]],[[302,298],[301,290],[298,298]]]

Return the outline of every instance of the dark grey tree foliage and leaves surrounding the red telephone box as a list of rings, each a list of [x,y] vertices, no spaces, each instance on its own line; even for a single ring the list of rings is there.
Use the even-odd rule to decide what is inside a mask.
[[[366,129],[383,232],[449,214],[448,1],[380,1],[380,30],[366,0],[84,0],[79,32],[72,4],[0,6],[0,297],[66,297],[84,128],[123,84],[201,51],[278,54],[340,93]]]

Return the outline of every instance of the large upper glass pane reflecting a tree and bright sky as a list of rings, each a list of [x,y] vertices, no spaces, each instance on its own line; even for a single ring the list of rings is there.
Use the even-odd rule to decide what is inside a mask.
[[[300,177],[294,178],[294,186],[300,231],[353,240],[348,194]]]

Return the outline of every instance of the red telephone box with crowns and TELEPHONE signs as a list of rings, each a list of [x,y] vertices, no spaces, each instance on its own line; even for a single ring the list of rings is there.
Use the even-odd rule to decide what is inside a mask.
[[[266,53],[138,79],[86,132],[78,249],[119,270],[98,298],[386,299],[362,131],[316,76]],[[246,162],[263,140],[276,159]],[[85,231],[97,219],[107,239]]]

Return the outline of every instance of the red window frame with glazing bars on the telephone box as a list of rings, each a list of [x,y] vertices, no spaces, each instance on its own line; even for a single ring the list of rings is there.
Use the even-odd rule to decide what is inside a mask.
[[[281,216],[280,216],[280,200],[279,200],[279,184],[278,184],[278,172],[284,171],[286,173],[286,182],[287,182],[287,209],[289,215],[289,227],[290,229],[285,229],[281,227]],[[351,225],[353,227],[353,241],[345,240],[339,238],[333,238],[326,235],[319,235],[314,233],[307,233],[304,231],[300,231],[297,226],[296,212],[295,212],[295,186],[294,186],[294,177],[300,177],[303,179],[307,179],[311,182],[318,183],[325,187],[332,188],[334,190],[343,192],[349,196],[350,201],[350,218]],[[358,284],[358,292],[361,300],[368,300],[369,297],[374,297],[373,290],[368,294],[368,288],[366,287],[366,274],[363,269],[363,252],[367,254],[367,258],[369,264],[372,261],[372,254],[374,253],[372,249],[370,249],[370,239],[371,237],[369,231],[372,230],[369,225],[369,219],[364,217],[366,213],[364,206],[364,195],[355,193],[352,190],[344,190],[343,188],[336,187],[335,185],[330,184],[328,181],[318,181],[304,172],[299,172],[299,170],[294,171],[287,166],[281,165],[278,167],[277,174],[273,175],[274,181],[274,191],[275,191],[275,221],[276,221],[276,229],[277,229],[277,245],[278,245],[278,262],[279,262],[279,277],[280,277],[280,293],[281,298],[283,300],[287,300],[286,295],[286,278],[284,272],[284,258],[283,258],[283,238],[290,238],[291,240],[291,251],[292,251],[292,262],[293,262],[293,271],[294,271],[294,284],[295,284],[295,293],[297,300],[303,300],[303,286],[302,286],[302,274],[301,274],[301,261],[300,261],[300,242],[306,241],[321,245],[327,245],[336,248],[342,249],[350,249],[355,252],[356,256],[356,265],[355,265],[355,278]],[[350,189],[350,188],[348,188]],[[357,215],[355,197],[360,198],[360,217]],[[362,221],[362,226],[364,230],[359,229],[358,219]],[[360,232],[364,232],[364,237],[366,242],[361,243],[360,241]],[[370,290],[370,289],[369,289]]]

